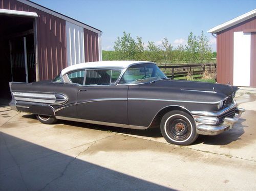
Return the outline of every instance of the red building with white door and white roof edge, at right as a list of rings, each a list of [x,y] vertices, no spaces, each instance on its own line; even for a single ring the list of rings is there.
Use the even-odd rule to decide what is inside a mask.
[[[256,9],[208,32],[217,35],[217,82],[256,87]]]

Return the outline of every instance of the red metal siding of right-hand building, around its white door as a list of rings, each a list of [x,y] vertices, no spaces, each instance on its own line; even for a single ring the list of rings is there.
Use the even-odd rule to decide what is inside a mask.
[[[256,28],[256,17],[217,33],[217,82],[233,84],[233,33]],[[255,36],[255,35],[253,35]],[[253,37],[255,38],[255,37]],[[255,41],[254,41],[255,42]],[[251,54],[254,54],[251,49]],[[255,49],[254,49],[255,52]],[[254,57],[255,58],[255,57]],[[251,65],[255,66],[254,62]],[[255,74],[255,73],[254,73]],[[256,80],[254,75],[253,80]]]

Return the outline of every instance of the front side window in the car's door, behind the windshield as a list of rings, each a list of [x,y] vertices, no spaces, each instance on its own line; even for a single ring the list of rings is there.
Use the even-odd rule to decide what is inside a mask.
[[[121,69],[88,69],[84,85],[114,85]]]

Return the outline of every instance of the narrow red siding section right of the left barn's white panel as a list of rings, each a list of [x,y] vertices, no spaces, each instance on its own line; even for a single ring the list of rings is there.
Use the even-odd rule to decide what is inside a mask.
[[[84,60],[86,62],[99,61],[98,34],[88,29],[83,29],[84,34]]]

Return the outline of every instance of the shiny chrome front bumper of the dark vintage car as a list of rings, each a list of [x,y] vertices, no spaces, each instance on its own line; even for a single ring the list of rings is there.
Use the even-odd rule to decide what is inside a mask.
[[[220,125],[216,125],[219,123],[219,118],[216,115],[210,115],[210,116],[193,115],[196,121],[197,133],[201,135],[218,135],[228,129],[232,129],[233,124],[238,122],[238,118],[241,116],[241,114],[245,110],[242,108],[236,107],[235,104],[231,108],[235,108],[236,114],[234,115],[233,118],[225,117],[223,120],[223,123]]]

